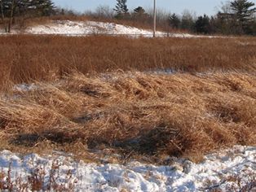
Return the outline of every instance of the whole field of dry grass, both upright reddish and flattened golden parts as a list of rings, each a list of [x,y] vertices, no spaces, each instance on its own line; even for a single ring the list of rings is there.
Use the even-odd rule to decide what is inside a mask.
[[[164,164],[256,144],[255,38],[7,36],[0,47],[1,149]],[[166,68],[176,72],[153,73]]]

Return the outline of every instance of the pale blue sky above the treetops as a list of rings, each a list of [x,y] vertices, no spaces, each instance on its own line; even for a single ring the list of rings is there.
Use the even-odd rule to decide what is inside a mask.
[[[84,12],[86,10],[94,10],[99,5],[108,5],[114,7],[116,0],[53,0],[57,6],[64,8],[72,8],[76,11]],[[152,7],[153,0],[127,0],[127,5],[130,10],[135,7],[144,7],[149,9]],[[197,15],[206,13],[214,15],[221,6],[221,2],[227,0],[157,0],[157,7],[164,11],[182,13],[184,10],[196,11]],[[256,0],[251,2],[256,3]]]

